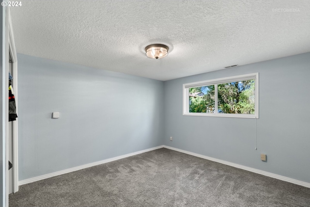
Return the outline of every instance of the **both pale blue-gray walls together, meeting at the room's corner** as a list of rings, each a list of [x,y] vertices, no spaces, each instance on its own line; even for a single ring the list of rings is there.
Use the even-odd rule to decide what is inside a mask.
[[[19,180],[165,144],[310,182],[310,53],[165,82],[17,58]],[[255,72],[259,119],[182,115],[183,83]]]

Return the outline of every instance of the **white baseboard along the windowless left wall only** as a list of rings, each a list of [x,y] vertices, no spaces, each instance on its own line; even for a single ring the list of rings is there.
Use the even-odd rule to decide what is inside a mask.
[[[70,168],[70,169],[62,170],[62,171],[58,171],[58,172],[55,172],[55,173],[50,173],[50,174],[46,174],[46,175],[40,175],[40,176],[37,176],[37,177],[32,177],[32,178],[29,178],[29,179],[25,179],[25,180],[19,181],[18,185],[24,185],[24,184],[27,184],[27,183],[32,183],[32,182],[35,182],[35,181],[47,179],[49,177],[54,177],[54,176],[57,176],[57,175],[71,173],[71,172],[74,172],[74,171],[78,171],[78,170],[82,170],[82,169],[85,169],[85,168],[93,167],[95,165],[104,164],[104,163],[107,163],[107,162],[111,162],[111,161],[115,161],[115,160],[118,160],[118,159],[123,159],[123,158],[131,157],[131,156],[134,156],[134,155],[139,155],[141,153],[153,151],[155,149],[159,149],[159,148],[163,148],[163,147],[164,147],[164,145],[156,146],[156,147],[152,147],[152,148],[149,148],[149,149],[141,150],[141,151],[138,151],[138,152],[133,152],[133,153],[129,153],[129,154],[126,154],[126,155],[121,155],[121,156],[118,156],[118,157],[114,157],[114,158],[110,158],[110,159],[104,159],[104,160],[101,160],[101,161],[97,161],[97,162],[81,165],[81,166],[78,166],[78,167],[73,167],[73,168]]]

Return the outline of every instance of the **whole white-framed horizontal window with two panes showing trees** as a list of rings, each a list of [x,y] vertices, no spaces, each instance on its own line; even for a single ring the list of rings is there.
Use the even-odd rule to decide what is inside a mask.
[[[258,73],[183,84],[183,115],[258,118]]]

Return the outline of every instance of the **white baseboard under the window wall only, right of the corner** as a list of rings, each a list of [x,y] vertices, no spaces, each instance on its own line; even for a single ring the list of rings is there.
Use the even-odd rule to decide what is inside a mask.
[[[310,188],[310,183],[307,183],[307,182],[304,182],[304,181],[300,181],[300,180],[296,180],[296,179],[293,179],[293,178],[290,178],[290,177],[285,177],[285,176],[282,176],[282,175],[268,173],[266,171],[258,170],[258,169],[247,167],[247,166],[244,166],[244,165],[235,164],[233,162],[228,162],[228,161],[224,161],[224,160],[221,160],[221,159],[211,158],[211,157],[208,157],[208,156],[204,156],[204,155],[200,155],[200,154],[197,154],[197,153],[189,152],[189,151],[186,151],[186,150],[174,148],[174,147],[171,147],[171,146],[163,145],[163,147],[165,147],[167,149],[174,150],[174,151],[182,152],[182,153],[185,153],[185,154],[188,154],[188,155],[192,155],[192,156],[195,156],[195,157],[199,157],[199,158],[202,158],[202,159],[208,159],[208,160],[211,160],[211,161],[215,161],[215,162],[218,162],[218,163],[222,163],[222,164],[225,164],[225,165],[236,167],[236,168],[239,168],[239,169],[242,169],[242,170],[247,170],[247,171],[252,172],[252,173],[257,173],[257,174],[260,174],[260,175],[265,175],[265,176],[268,176],[268,177],[276,178],[276,179],[279,179],[279,180],[282,180],[282,181],[286,181],[286,182],[289,182],[289,183],[293,183],[293,184],[296,184],[296,185],[300,185],[300,186],[304,186],[304,187]]]

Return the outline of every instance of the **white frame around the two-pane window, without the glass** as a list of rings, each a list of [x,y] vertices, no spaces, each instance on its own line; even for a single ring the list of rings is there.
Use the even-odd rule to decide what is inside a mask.
[[[214,117],[235,117],[235,118],[259,118],[259,87],[258,73],[251,73],[240,76],[232,76],[227,78],[204,80],[183,84],[183,115],[185,116],[214,116]],[[217,112],[217,84],[236,82],[242,80],[255,80],[255,113],[254,114],[236,114],[236,113],[218,113]],[[189,88],[215,85],[215,113],[197,113],[189,112]]]

